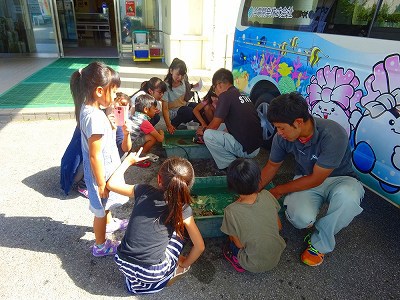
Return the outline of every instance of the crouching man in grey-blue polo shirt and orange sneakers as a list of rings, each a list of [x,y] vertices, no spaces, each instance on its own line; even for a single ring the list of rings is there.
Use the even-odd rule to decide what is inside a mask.
[[[348,136],[338,123],[314,119],[298,93],[272,100],[267,118],[277,134],[262,169],[260,186],[266,186],[274,178],[287,154],[294,156],[294,179],[270,192],[277,199],[286,195],[286,217],[296,228],[315,227],[305,239],[308,246],[301,260],[309,266],[318,266],[324,254],[335,248],[335,234],[362,212],[364,189],[352,169]],[[316,220],[325,202],[329,204],[328,211]]]

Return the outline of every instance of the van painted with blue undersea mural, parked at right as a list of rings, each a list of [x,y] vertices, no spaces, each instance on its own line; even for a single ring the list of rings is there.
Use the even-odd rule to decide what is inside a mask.
[[[347,131],[363,184],[400,207],[400,0],[245,0],[235,86],[257,107],[293,91]]]

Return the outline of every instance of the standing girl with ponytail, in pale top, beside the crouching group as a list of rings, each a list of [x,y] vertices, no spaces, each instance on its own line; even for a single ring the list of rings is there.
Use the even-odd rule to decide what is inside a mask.
[[[82,159],[85,183],[94,214],[94,256],[114,255],[119,242],[106,237],[107,223],[114,221],[110,210],[129,198],[110,192],[106,182],[120,165],[116,144],[116,126],[102,109],[113,105],[116,90],[121,85],[119,74],[101,62],[90,63],[71,75],[70,89],[75,104],[75,117],[81,131]],[[123,127],[124,141],[130,142],[129,131]],[[127,145],[125,145],[127,146]],[[118,222],[118,229],[126,222]]]

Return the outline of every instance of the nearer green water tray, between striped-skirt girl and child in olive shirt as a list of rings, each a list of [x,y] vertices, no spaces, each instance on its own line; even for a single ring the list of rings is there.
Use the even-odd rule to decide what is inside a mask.
[[[266,189],[272,187],[269,184]],[[203,238],[224,236],[220,229],[224,208],[237,198],[228,190],[226,176],[196,177],[191,195],[194,219]]]

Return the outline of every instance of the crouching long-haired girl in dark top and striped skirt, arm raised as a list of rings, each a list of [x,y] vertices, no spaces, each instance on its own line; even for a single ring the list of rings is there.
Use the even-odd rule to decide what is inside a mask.
[[[115,262],[133,294],[162,290],[190,266],[204,251],[204,241],[190,207],[194,183],[191,163],[181,157],[164,161],[157,175],[158,187],[126,184],[129,166],[146,159],[130,153],[107,183],[110,191],[134,198],[134,207]],[[121,183],[122,182],[122,183]],[[180,255],[185,229],[193,247],[186,257]]]

